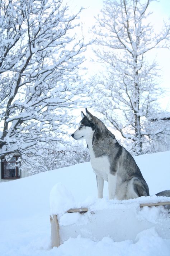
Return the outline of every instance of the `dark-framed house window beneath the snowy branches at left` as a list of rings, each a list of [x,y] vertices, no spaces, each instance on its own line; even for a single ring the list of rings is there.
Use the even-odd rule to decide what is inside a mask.
[[[17,166],[19,156],[13,156],[8,162],[3,159],[1,162],[1,178],[2,179],[17,179],[20,178],[20,170]]]

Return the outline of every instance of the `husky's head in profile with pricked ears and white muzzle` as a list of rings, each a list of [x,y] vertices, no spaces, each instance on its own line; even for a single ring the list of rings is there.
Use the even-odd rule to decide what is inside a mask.
[[[79,123],[79,129],[77,129],[71,136],[75,140],[84,140],[93,136],[93,133],[96,128],[96,124],[98,123],[99,119],[93,116],[87,109],[86,115],[81,112],[82,120]]]

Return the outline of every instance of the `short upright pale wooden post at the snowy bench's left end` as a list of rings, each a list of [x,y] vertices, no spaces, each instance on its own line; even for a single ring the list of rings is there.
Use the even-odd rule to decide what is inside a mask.
[[[60,230],[57,215],[50,216],[52,248],[60,246]]]

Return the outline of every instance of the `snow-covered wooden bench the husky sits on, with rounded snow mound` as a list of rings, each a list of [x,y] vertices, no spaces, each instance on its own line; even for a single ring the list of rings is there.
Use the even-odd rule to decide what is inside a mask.
[[[79,204],[78,207],[76,204]],[[62,184],[50,194],[52,247],[60,246],[78,235],[96,242],[111,237],[115,242],[135,240],[146,229],[155,228],[162,238],[170,238],[168,197],[141,197],[130,200],[86,200],[86,207],[76,203]],[[160,206],[160,207],[155,207]]]

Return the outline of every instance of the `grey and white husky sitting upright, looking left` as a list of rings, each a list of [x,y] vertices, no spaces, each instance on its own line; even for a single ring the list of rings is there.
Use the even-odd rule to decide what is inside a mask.
[[[108,181],[109,199],[148,196],[149,189],[134,158],[104,125],[90,114],[81,112],[82,120],[71,136],[86,140],[92,168],[96,174],[98,198],[103,198],[104,180]]]

